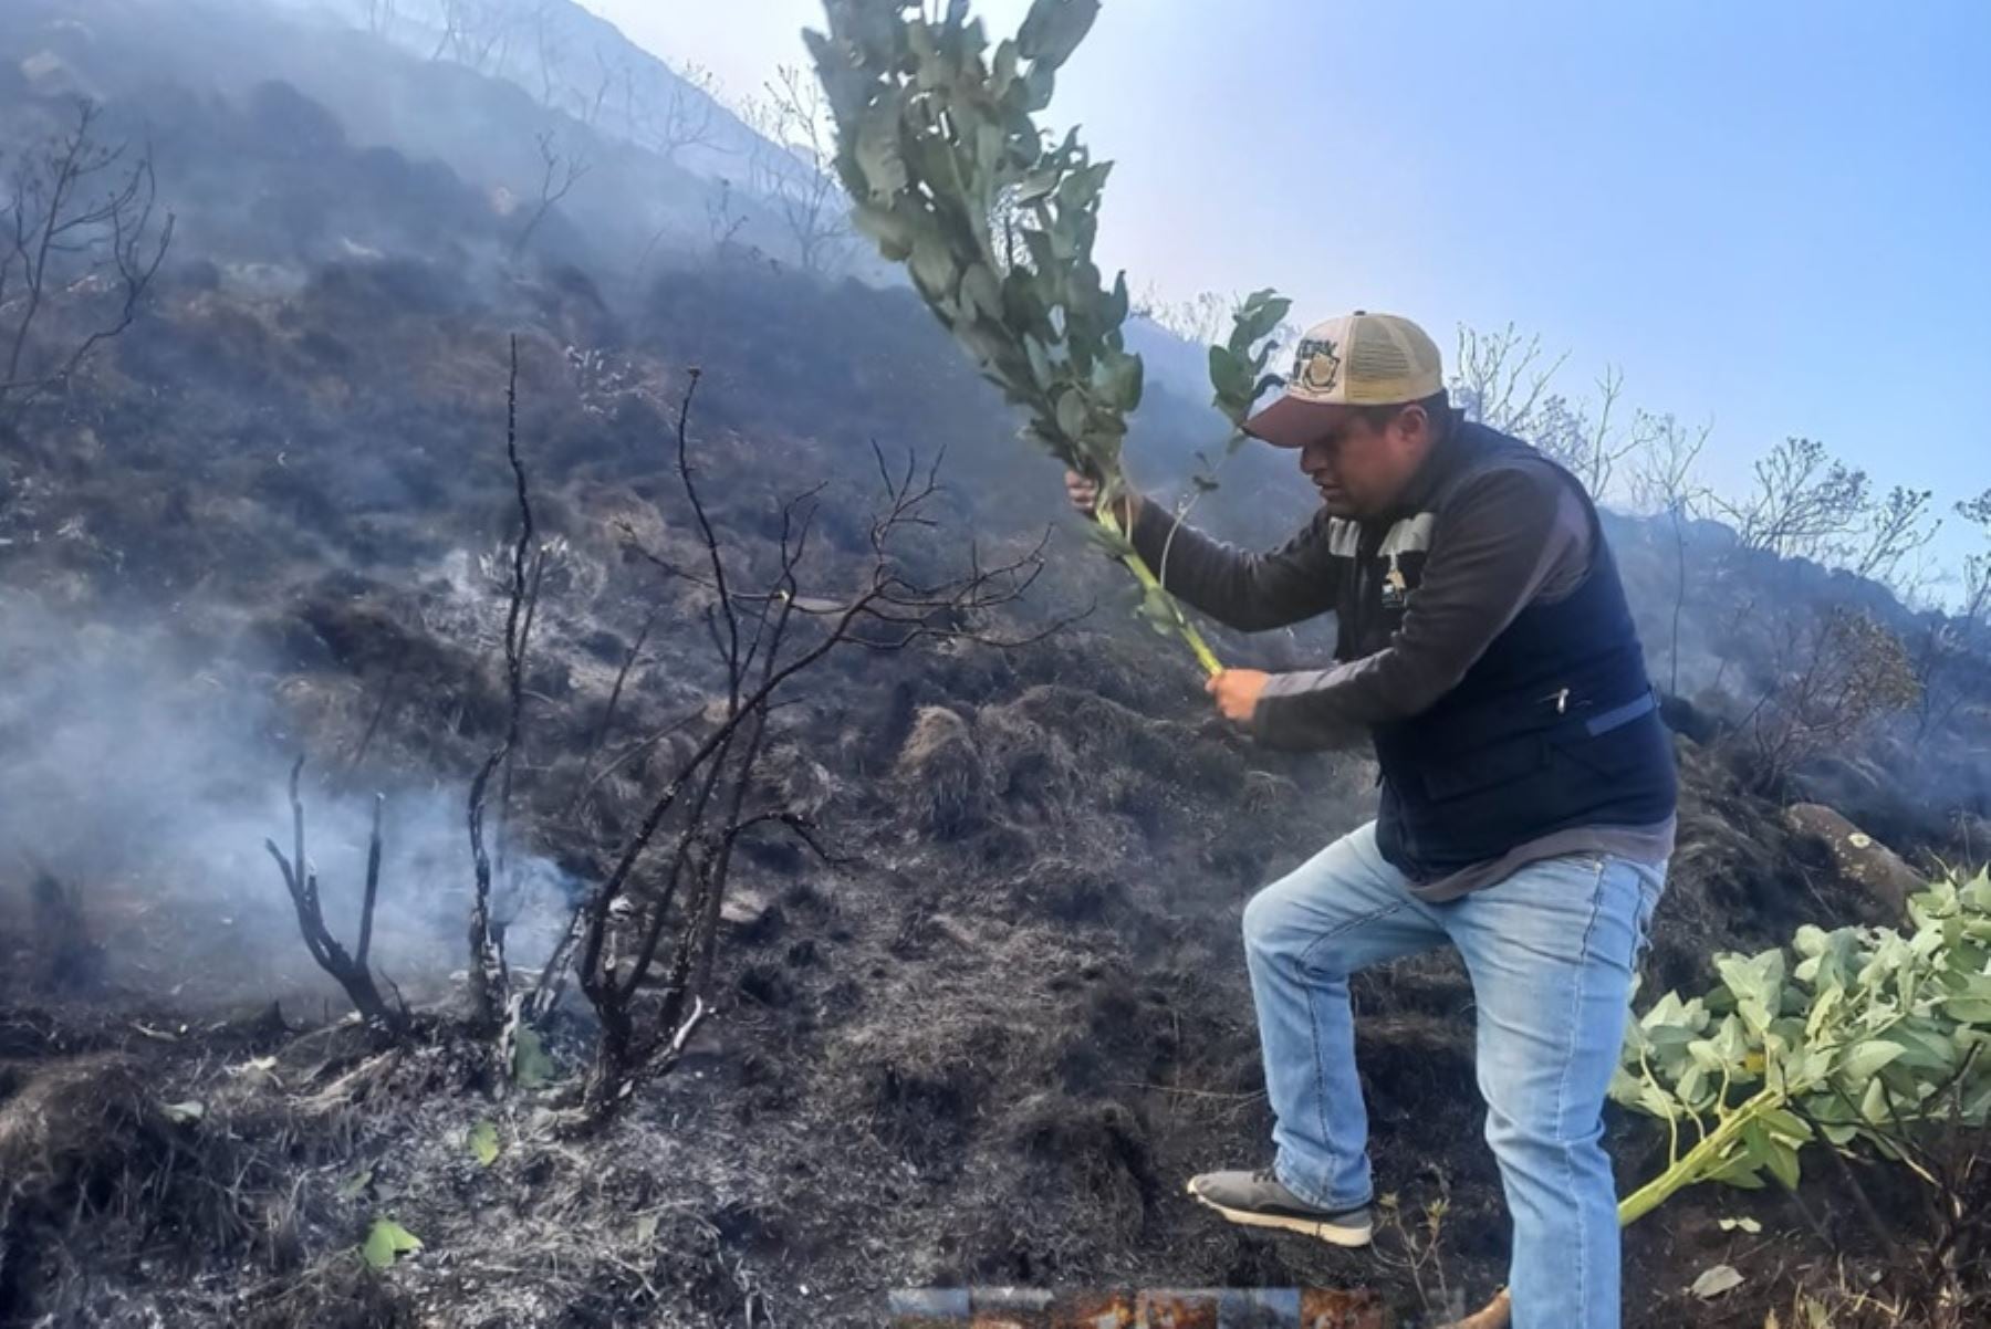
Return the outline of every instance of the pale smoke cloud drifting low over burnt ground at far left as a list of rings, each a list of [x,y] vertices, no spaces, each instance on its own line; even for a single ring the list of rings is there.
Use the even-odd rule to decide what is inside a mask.
[[[100,981],[179,1009],[331,997],[265,840],[291,852],[287,780],[299,752],[277,688],[161,623],[78,623],[0,595],[0,963],[32,975],[50,945],[30,903],[54,879],[80,903]],[[348,738],[356,742],[358,734]],[[327,923],[358,933],[372,792],[342,754],[307,764],[307,857]],[[470,852],[458,784],[386,796],[374,963],[434,1001],[466,963]],[[514,855],[496,913],[516,963],[552,951],[571,881]],[[8,935],[20,955],[6,951]]]

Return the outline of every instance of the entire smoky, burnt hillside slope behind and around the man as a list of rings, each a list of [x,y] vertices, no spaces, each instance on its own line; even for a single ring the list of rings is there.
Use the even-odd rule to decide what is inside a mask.
[[[542,42],[548,16],[573,26]],[[773,587],[818,615],[804,645],[870,585],[908,464],[914,487],[938,468],[892,543],[914,585],[1027,567],[1059,501],[908,292],[854,281],[876,275],[834,247],[804,259],[786,195],[747,187],[741,117],[645,141],[655,117],[615,62],[661,115],[675,76],[639,60],[559,4],[0,18],[6,163],[88,94],[102,143],[149,147],[153,237],[173,213],[139,318],[0,394],[0,1321],[868,1325],[884,1287],[960,1281],[1354,1279],[1420,1313],[1406,1267],[1238,1235],[1179,1186],[1256,1162],[1264,1136],[1238,911],[1368,814],[1374,768],[1215,720],[1061,519],[1021,599],[928,605],[912,649],[830,653],[765,712],[761,756],[721,772],[816,844],[739,836],[711,931],[689,891],[663,903],[685,826],[665,820],[599,959],[627,979],[633,919],[711,937],[683,1046],[669,985],[629,979],[669,1074],[647,1062],[613,1120],[573,1134],[595,1007],[569,991],[498,1031],[472,1011],[470,786],[514,714],[492,913],[530,991],[567,909],[725,724],[715,547],[759,597],[743,637]],[[34,338],[58,352],[121,310],[115,263],[50,292]],[[703,519],[677,470],[693,368]],[[1193,491],[1220,434],[1193,396],[1161,386],[1137,420],[1157,493]],[[1266,543],[1306,513],[1272,460],[1220,479],[1193,517],[1220,535]],[[1660,511],[1611,535],[1686,786],[1649,989],[1897,907],[1897,877],[1850,867],[1794,804],[1913,867],[1983,857],[1981,621],[1730,523]],[[1322,625],[1217,635],[1272,668],[1326,645]],[[348,947],[386,796],[372,959],[414,1031],[346,1021],[299,939],[263,848],[289,846],[299,754]],[[699,854],[687,881],[719,863]],[[1356,999],[1384,1184],[1449,1196],[1451,1277],[1487,1283],[1505,1237],[1463,975],[1412,961]],[[542,1046],[500,1052],[526,1027]],[[1641,1170],[1645,1124],[1615,1128]],[[1774,1198],[1686,1198],[1631,1237],[1633,1323],[1680,1323],[1738,1204],[1796,1251],[1766,1297],[1838,1277],[1846,1251]],[[422,1249],[368,1265],[380,1220]]]

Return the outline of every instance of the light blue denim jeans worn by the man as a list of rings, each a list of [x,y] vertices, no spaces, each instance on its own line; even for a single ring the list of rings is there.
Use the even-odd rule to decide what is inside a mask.
[[[1372,1200],[1348,975],[1449,943],[1473,985],[1485,1136],[1513,1218],[1513,1325],[1617,1329],[1603,1104],[1664,863],[1555,857],[1441,905],[1404,881],[1370,824],[1244,907],[1278,1180],[1320,1208]]]

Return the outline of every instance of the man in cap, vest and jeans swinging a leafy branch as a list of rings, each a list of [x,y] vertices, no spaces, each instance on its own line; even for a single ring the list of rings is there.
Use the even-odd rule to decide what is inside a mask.
[[[1390,314],[1310,328],[1244,430],[1294,450],[1320,489],[1284,547],[1242,553],[1139,495],[1121,517],[1213,619],[1336,615],[1332,668],[1230,668],[1209,690],[1268,746],[1370,738],[1382,804],[1246,905],[1276,1152],[1189,1190],[1236,1224],[1368,1243],[1348,977],[1451,945],[1513,1218],[1513,1323],[1615,1327],[1603,1100],[1672,854],[1674,770],[1597,511],[1539,452],[1453,414],[1438,346]],[[1091,511],[1097,487],[1067,485]]]

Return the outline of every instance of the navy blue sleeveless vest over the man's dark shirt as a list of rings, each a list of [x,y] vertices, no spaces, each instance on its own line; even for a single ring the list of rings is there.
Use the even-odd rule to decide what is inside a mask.
[[[1505,434],[1455,424],[1432,507],[1441,509],[1461,479],[1513,456],[1541,458]],[[1416,881],[1559,830],[1657,826],[1674,814],[1672,740],[1617,561],[1583,485],[1561,474],[1591,521],[1585,579],[1561,601],[1523,609],[1438,704],[1376,728],[1378,848]],[[1384,567],[1386,543],[1362,537],[1342,607],[1344,655],[1366,655],[1364,647],[1388,639],[1424,571],[1422,557],[1388,557]]]

